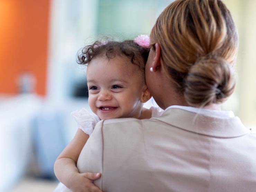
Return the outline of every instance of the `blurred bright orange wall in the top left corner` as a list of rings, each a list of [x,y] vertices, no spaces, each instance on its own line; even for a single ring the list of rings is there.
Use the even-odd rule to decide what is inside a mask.
[[[45,95],[50,0],[0,0],[0,94],[17,94],[22,72]]]

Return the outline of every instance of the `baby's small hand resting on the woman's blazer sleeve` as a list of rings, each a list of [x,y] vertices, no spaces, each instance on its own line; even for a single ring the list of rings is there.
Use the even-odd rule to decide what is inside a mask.
[[[72,176],[72,192],[102,192],[92,182],[99,179],[100,173],[75,173]]]

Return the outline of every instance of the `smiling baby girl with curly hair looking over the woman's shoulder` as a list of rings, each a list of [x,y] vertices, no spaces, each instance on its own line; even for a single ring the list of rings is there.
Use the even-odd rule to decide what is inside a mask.
[[[54,165],[57,178],[72,191],[101,191],[76,168],[79,154],[98,121],[149,119],[161,114],[159,108],[143,108],[151,98],[144,75],[148,53],[149,38],[139,36],[134,41],[96,41],[78,55],[78,62],[88,65],[88,102],[94,114],[85,109],[72,113],[80,129]],[[69,191],[62,183],[56,192]]]

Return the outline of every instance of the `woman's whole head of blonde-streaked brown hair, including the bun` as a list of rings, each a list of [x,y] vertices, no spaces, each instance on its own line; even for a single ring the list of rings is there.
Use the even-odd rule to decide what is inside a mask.
[[[191,106],[221,103],[234,91],[237,29],[220,0],[174,1],[158,17],[150,43],[159,43],[165,72]]]

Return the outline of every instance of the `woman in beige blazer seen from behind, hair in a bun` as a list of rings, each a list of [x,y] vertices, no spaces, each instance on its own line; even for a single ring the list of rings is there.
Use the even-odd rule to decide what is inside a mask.
[[[165,110],[95,127],[81,172],[103,191],[254,191],[256,133],[220,104],[234,91],[238,37],[220,0],[177,0],[158,17],[146,82]],[[93,178],[91,178],[93,179]]]

